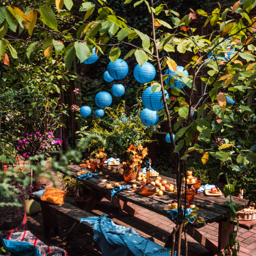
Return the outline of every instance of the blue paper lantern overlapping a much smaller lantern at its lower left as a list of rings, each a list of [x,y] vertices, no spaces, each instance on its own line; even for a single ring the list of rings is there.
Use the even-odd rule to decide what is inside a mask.
[[[107,65],[107,71],[115,80],[120,80],[128,74],[128,65],[124,60],[117,59]]]

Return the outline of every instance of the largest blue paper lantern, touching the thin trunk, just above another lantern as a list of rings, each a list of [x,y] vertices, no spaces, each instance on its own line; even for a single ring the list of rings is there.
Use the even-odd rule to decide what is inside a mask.
[[[164,90],[166,99],[169,99],[167,90]],[[158,111],[163,109],[163,100],[161,100],[162,92],[152,92],[151,86],[147,87],[142,93],[142,103],[143,105],[152,111]],[[161,100],[161,101],[160,101]]]

